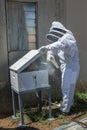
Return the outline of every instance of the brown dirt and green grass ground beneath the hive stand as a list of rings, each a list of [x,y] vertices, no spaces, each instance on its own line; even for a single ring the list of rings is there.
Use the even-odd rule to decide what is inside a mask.
[[[37,108],[24,109],[24,122],[26,124],[25,130],[53,130],[54,128],[68,124],[75,119],[80,121],[81,119],[87,117],[87,103],[77,102],[71,109],[71,112],[67,116],[56,116],[58,112],[58,106],[52,106],[52,116],[54,120],[48,120],[48,106],[43,107],[43,111],[40,115],[37,114]],[[45,114],[44,114],[45,113]],[[19,112],[17,116],[19,117]],[[42,118],[43,117],[43,118]],[[45,117],[45,118],[44,118]],[[20,117],[14,120],[12,118],[12,113],[2,113],[0,114],[0,130],[21,130],[19,127]]]

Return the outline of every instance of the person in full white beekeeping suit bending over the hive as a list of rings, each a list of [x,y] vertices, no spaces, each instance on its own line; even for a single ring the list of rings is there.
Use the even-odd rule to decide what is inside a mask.
[[[63,96],[60,113],[65,115],[70,112],[74,102],[75,85],[80,70],[78,48],[73,33],[57,21],[52,22],[47,39],[52,43],[42,46],[39,51],[51,52],[47,55],[48,60],[54,53],[59,57]]]

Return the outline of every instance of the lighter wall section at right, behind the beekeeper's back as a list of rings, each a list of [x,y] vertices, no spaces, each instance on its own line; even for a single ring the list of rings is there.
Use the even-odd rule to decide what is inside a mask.
[[[80,80],[87,81],[87,0],[66,0],[66,25],[77,39],[80,55]]]

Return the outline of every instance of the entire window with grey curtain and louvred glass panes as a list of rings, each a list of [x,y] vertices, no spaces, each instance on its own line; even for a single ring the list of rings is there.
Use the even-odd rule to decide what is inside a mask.
[[[8,51],[36,48],[36,3],[8,1]]]

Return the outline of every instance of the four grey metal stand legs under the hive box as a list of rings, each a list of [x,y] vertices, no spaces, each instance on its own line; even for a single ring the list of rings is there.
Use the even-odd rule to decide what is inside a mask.
[[[24,124],[24,113],[23,113],[23,102],[22,102],[22,93],[17,93],[18,95],[18,102],[19,102],[19,111],[20,111],[20,124],[21,128],[25,128],[26,125]],[[42,101],[41,101],[41,90],[38,91],[39,95],[39,111],[42,112]],[[48,120],[54,120],[52,117],[52,109],[51,109],[51,88],[48,89],[48,100],[49,100],[49,118]],[[16,119],[16,105],[15,105],[15,92],[12,90],[12,100],[13,100],[13,119]]]

